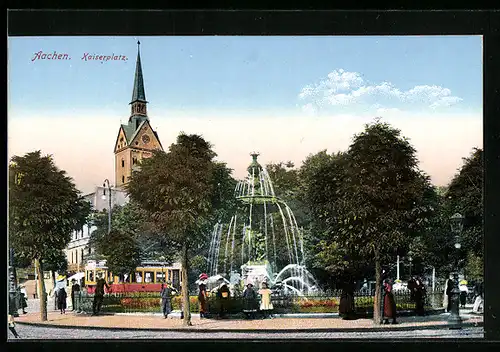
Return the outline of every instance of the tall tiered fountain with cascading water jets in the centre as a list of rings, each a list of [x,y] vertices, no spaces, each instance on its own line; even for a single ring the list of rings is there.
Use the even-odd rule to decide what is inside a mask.
[[[241,277],[240,284],[255,287],[266,281],[284,294],[316,291],[317,282],[304,265],[303,236],[295,216],[275,195],[267,170],[257,161],[259,154],[250,155],[247,177],[234,190],[239,210],[229,224],[214,226],[209,275]],[[238,268],[240,276],[236,275]]]

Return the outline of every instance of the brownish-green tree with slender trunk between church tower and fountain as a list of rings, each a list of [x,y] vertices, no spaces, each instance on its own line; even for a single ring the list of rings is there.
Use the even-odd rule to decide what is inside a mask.
[[[215,157],[201,136],[181,133],[168,153],[155,151],[144,159],[127,185],[130,199],[144,211],[148,229],[181,249],[184,325],[191,325],[190,250],[206,242],[206,229],[218,215],[216,209],[226,203],[221,182],[231,181],[231,171],[216,163]]]

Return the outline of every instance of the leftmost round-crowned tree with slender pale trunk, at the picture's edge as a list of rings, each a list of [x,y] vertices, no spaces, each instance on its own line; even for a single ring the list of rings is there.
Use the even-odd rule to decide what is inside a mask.
[[[14,156],[9,164],[9,242],[16,252],[35,261],[40,316],[47,320],[44,264],[52,250],[62,250],[86,217],[80,192],[50,155],[40,151]]]

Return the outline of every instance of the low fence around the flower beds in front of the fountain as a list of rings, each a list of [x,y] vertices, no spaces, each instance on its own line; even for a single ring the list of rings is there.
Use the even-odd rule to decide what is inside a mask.
[[[271,297],[274,312],[281,313],[337,313],[340,304],[341,291],[329,291],[321,294],[306,296],[283,296],[273,295]],[[411,299],[409,291],[394,293],[398,311],[415,309],[415,302]],[[84,294],[81,299],[83,311],[91,313],[93,295]],[[173,310],[181,309],[181,296],[172,297]],[[373,292],[356,292],[354,295],[356,311],[361,314],[373,314]],[[440,308],[443,304],[443,292],[428,292],[424,299],[426,309]],[[209,312],[215,314],[219,310],[219,301],[215,295],[208,297]],[[231,297],[226,301],[226,309],[229,314],[241,313],[243,310],[243,299]],[[190,296],[190,310],[199,313],[197,296]],[[104,313],[160,313],[161,298],[156,292],[137,292],[125,294],[109,294],[104,296],[102,304]]]

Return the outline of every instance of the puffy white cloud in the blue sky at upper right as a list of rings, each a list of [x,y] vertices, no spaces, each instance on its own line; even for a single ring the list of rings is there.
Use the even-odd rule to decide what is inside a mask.
[[[299,99],[316,110],[325,106],[348,106],[370,99],[392,100],[395,103],[419,104],[431,109],[448,107],[462,101],[450,89],[436,85],[419,85],[402,91],[390,82],[370,83],[357,72],[335,70],[317,84],[304,87]],[[311,108],[308,108],[311,111]]]

